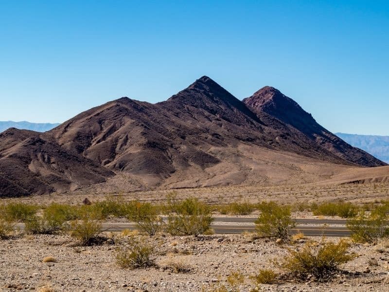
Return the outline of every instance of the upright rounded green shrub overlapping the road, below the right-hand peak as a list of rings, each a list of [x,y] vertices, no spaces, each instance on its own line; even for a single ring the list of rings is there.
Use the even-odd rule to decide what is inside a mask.
[[[255,221],[255,229],[261,237],[287,239],[295,226],[291,218],[290,206],[280,206],[275,202],[258,205],[261,215]]]

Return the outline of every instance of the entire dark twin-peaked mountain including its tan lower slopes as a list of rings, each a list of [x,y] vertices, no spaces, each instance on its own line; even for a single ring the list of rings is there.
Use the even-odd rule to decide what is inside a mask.
[[[122,97],[41,133],[0,133],[0,197],[389,180],[387,167],[273,87],[243,101],[207,76],[165,101]],[[381,170],[383,169],[383,170]],[[339,181],[339,177],[336,177]],[[93,189],[95,188],[95,189]]]

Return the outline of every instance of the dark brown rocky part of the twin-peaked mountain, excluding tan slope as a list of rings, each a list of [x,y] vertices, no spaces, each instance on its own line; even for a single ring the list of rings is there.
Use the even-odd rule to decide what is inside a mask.
[[[185,180],[231,162],[223,149],[239,145],[336,164],[385,165],[322,128],[276,89],[263,88],[242,102],[203,76],[157,104],[123,97],[46,133],[1,133],[0,196],[62,192],[115,173],[152,177],[158,186],[173,174]]]

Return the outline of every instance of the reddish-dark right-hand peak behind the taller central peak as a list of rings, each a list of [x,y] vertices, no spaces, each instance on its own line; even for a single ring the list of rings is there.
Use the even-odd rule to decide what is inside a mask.
[[[311,114],[307,113],[294,100],[275,88],[266,86],[243,101],[256,110],[259,115],[265,112],[283,122],[290,129],[290,132],[299,131],[320,147],[324,153],[329,152],[345,162],[357,165],[385,165],[372,155],[347,144],[320,126]],[[271,123],[271,121],[269,122]],[[303,140],[303,138],[301,139]]]

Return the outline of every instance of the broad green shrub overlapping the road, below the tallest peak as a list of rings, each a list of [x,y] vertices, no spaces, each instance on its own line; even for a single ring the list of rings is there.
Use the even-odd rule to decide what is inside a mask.
[[[181,202],[174,198],[169,200],[168,206],[168,233],[198,236],[210,229],[212,216],[208,205],[193,198]]]

